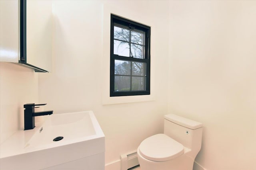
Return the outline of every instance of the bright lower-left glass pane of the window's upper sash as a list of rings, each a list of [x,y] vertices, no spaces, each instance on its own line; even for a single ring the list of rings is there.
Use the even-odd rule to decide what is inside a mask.
[[[121,55],[124,57],[130,57],[129,43],[114,40],[114,54]]]

